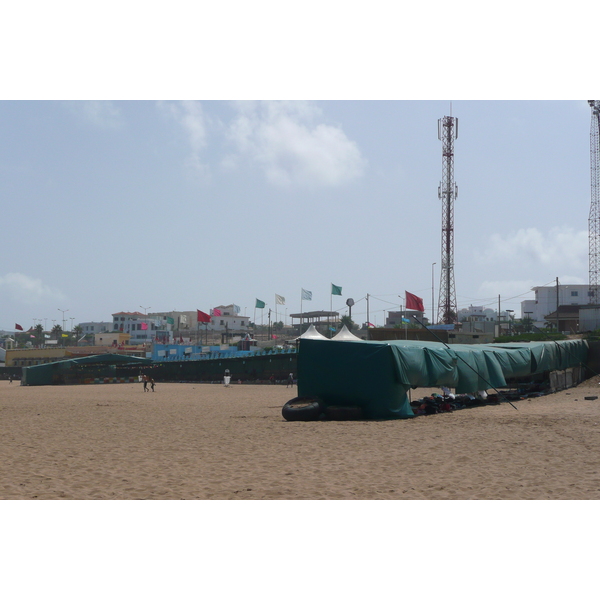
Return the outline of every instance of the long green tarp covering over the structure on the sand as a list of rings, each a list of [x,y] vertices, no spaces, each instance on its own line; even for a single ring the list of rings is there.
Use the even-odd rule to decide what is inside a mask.
[[[411,387],[455,388],[473,393],[506,386],[507,378],[576,367],[587,342],[453,344],[417,341],[301,339],[298,394],[326,405],[360,406],[366,418],[412,417]]]

